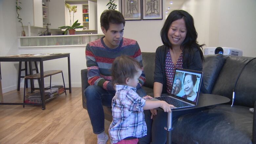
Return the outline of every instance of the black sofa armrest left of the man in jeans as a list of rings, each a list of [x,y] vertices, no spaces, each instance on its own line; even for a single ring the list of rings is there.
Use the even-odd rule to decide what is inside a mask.
[[[87,69],[81,70],[81,81],[82,81],[82,100],[83,100],[83,108],[86,108],[86,99],[84,96],[84,90],[89,86],[88,77],[87,77]]]

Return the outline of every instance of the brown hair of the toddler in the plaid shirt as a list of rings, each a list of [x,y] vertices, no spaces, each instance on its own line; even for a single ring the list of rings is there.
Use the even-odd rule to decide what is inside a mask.
[[[133,78],[136,72],[139,72],[138,70],[141,70],[141,66],[135,59],[127,55],[117,57],[111,67],[113,86],[115,84],[125,84],[126,78]]]

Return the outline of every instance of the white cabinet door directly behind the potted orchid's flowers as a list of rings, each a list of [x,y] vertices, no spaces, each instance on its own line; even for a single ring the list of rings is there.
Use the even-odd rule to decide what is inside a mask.
[[[78,20],[78,23],[80,23],[82,25],[83,23],[83,19],[82,19],[82,5],[81,4],[75,4],[75,5],[70,5],[72,6],[77,6],[77,11],[74,13],[73,11],[71,11],[69,13],[69,10],[66,8],[66,26],[72,26],[73,23]],[[74,16],[74,17],[73,17]],[[71,20],[71,23],[70,23]],[[75,29],[75,31],[82,31],[83,29]]]

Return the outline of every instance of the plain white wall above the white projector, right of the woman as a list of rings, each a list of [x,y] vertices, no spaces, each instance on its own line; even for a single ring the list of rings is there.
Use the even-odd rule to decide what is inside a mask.
[[[233,47],[256,57],[255,0],[187,0],[181,7],[195,20],[198,42],[206,47]]]

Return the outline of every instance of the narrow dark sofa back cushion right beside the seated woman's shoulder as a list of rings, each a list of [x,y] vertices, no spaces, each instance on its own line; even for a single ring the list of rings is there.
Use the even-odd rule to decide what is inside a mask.
[[[203,93],[211,93],[227,57],[222,54],[205,55],[203,62]]]

